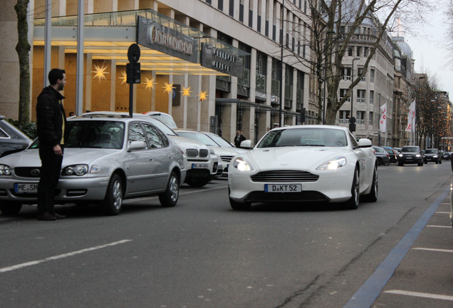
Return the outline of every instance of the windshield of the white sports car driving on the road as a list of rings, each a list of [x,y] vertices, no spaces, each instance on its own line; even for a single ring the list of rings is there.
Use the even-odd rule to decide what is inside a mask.
[[[328,146],[345,147],[348,145],[343,130],[329,128],[291,128],[271,130],[258,145],[258,148],[283,146]]]

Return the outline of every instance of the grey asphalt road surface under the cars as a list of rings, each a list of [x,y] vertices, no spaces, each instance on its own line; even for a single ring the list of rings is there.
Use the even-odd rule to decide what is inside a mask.
[[[26,207],[0,215],[0,307],[452,307],[451,180],[449,162],[381,166],[378,201],[358,210],[236,212],[223,179],[115,217],[66,205],[39,222]]]

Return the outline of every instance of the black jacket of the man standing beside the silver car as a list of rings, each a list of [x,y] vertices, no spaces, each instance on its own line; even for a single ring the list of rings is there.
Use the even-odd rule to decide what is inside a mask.
[[[36,104],[36,125],[40,146],[53,147],[60,144],[63,135],[63,120],[66,114],[61,100],[65,98],[51,86],[43,88]]]

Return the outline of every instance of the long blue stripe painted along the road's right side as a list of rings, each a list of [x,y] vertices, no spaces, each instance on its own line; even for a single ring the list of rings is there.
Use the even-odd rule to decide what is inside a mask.
[[[376,268],[375,272],[368,280],[358,289],[357,292],[349,299],[343,308],[369,308],[375,302],[375,299],[382,291],[382,288],[387,284],[392,274],[395,272],[400,262],[414,245],[415,240],[422,232],[429,218],[434,214],[437,207],[447,197],[449,188],[444,193],[439,195],[437,199],[429,205],[428,209],[423,213],[406,235],[398,242],[392,251],[385,257],[385,260]]]

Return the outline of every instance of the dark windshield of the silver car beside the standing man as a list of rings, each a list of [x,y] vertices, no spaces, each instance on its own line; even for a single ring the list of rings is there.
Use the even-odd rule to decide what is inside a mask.
[[[123,148],[125,123],[110,120],[74,120],[65,127],[65,148]]]

